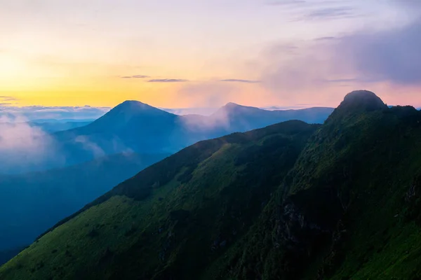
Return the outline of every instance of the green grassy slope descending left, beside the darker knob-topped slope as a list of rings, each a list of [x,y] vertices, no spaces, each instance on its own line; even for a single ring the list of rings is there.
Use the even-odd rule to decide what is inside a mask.
[[[290,121],[185,148],[59,223],[0,278],[197,279],[253,225],[318,127]]]

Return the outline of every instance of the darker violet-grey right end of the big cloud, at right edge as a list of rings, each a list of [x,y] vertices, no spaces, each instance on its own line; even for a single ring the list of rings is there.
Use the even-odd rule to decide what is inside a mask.
[[[361,31],[333,44],[337,61],[368,80],[421,85],[421,17],[382,31]],[[338,55],[339,56],[339,55]]]

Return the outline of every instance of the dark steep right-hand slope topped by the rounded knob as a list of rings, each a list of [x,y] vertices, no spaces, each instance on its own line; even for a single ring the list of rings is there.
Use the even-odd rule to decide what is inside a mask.
[[[203,279],[420,279],[421,114],[379,100],[347,95]]]

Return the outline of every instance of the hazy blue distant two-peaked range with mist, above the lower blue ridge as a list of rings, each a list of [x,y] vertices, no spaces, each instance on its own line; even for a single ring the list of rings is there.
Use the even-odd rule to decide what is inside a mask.
[[[323,123],[332,111],[329,108],[265,111],[229,103],[210,116],[178,116],[128,100],[91,123],[36,121],[22,123],[22,127],[13,124],[14,127],[8,127],[9,132],[3,130],[8,146],[13,148],[1,150],[4,137],[0,134],[0,156],[8,159],[0,162],[0,174],[68,167],[115,153],[175,153],[197,141],[285,120]]]

